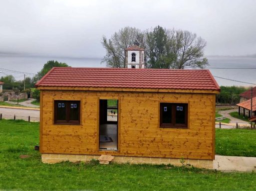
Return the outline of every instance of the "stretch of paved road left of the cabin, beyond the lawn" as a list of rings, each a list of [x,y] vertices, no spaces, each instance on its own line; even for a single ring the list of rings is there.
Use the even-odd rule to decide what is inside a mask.
[[[28,116],[30,116],[31,121],[39,121],[40,120],[40,111],[39,110],[14,109],[14,108],[0,107],[0,113],[2,113],[3,119],[13,119],[13,116],[15,114],[16,119],[28,120]]]

